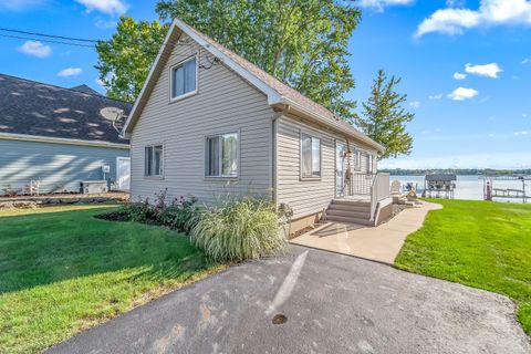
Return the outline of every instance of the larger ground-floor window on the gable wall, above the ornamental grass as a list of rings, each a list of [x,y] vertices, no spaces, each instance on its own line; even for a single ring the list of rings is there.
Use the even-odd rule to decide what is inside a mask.
[[[238,177],[238,133],[208,136],[205,150],[207,177]]]

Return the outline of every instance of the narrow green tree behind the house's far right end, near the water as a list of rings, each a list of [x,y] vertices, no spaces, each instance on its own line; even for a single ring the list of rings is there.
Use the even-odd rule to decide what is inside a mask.
[[[385,72],[379,70],[371,96],[363,103],[363,116],[356,122],[365,134],[385,147],[386,150],[379,158],[412,153],[413,137],[406,132],[406,123],[415,114],[403,107],[407,95],[395,92],[400,81],[400,77],[395,76],[388,80]]]

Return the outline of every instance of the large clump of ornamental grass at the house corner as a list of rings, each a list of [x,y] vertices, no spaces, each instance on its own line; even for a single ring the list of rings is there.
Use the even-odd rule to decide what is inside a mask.
[[[210,208],[190,238],[215,261],[258,259],[285,247],[274,205],[253,198],[226,200]]]

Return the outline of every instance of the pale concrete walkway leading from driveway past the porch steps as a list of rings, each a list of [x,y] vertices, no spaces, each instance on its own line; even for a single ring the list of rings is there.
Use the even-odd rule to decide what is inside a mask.
[[[421,207],[405,209],[377,227],[329,222],[290,242],[393,264],[406,237],[423,226],[429,210],[441,208],[423,201]]]

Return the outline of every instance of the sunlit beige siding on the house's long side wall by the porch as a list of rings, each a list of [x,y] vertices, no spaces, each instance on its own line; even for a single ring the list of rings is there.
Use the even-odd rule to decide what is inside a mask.
[[[321,178],[301,179],[301,132],[321,138]],[[278,204],[288,204],[293,209],[293,218],[301,218],[323,211],[335,197],[335,144],[343,137],[310,126],[300,121],[282,116],[277,125],[277,199]],[[360,149],[366,154],[376,154],[374,149],[350,142],[351,150]],[[351,166],[354,169],[354,158]],[[376,160],[374,163],[376,168]],[[362,158],[362,171],[366,171]],[[354,173],[356,173],[354,170]]]

